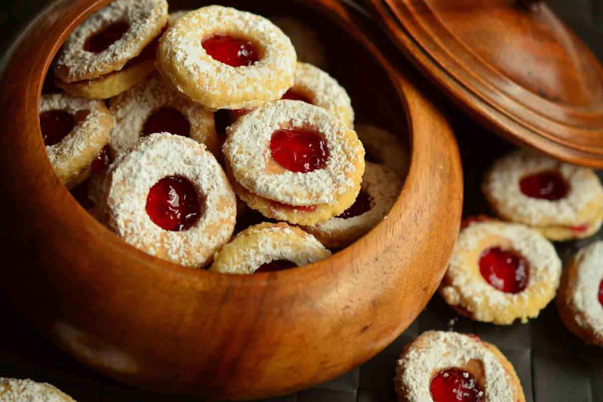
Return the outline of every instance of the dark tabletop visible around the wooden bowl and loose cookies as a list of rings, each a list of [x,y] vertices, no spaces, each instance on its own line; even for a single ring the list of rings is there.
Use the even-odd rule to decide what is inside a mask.
[[[0,5],[2,48],[11,43],[25,22],[47,3],[30,0]],[[603,1],[549,0],[548,3],[603,59]],[[464,213],[487,213],[479,193],[481,176],[491,160],[511,146],[469,121],[452,105],[444,104],[443,108],[447,109],[455,128],[463,157]],[[578,248],[595,239],[603,239],[603,232],[590,239],[560,243],[557,250],[565,262]],[[17,315],[10,301],[2,300],[1,295],[0,303],[4,306],[0,328],[0,377],[49,382],[80,402],[198,400],[148,394],[108,380],[58,351]],[[399,339],[369,362],[333,382],[273,401],[393,401],[392,378],[397,356],[418,334],[432,329],[476,333],[485,341],[496,344],[515,366],[528,402],[603,401],[603,348],[587,347],[569,334],[558,318],[554,303],[529,324],[499,327],[459,318],[438,295]]]

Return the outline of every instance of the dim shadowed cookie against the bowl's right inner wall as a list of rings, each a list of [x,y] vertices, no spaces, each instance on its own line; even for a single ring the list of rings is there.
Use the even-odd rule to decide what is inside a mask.
[[[406,178],[408,151],[394,134],[370,124],[356,125],[356,133],[367,152],[367,160],[384,165],[400,178]]]

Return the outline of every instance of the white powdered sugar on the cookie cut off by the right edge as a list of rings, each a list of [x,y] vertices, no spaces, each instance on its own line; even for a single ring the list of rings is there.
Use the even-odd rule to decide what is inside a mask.
[[[583,248],[575,257],[576,274],[570,275],[566,302],[576,312],[575,321],[590,330],[603,345],[603,306],[599,303],[599,284],[603,280],[603,242]]]

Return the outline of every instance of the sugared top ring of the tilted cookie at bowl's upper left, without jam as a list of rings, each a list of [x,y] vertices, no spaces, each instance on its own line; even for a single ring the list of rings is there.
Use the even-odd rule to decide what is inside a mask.
[[[121,39],[99,53],[84,50],[90,36],[122,21],[130,24],[130,29]],[[92,14],[69,35],[58,55],[55,75],[72,83],[119,71],[159,35],[167,21],[166,0],[116,0]]]

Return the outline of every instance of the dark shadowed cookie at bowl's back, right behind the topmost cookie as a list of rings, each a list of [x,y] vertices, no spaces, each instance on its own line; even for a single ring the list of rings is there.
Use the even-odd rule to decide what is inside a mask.
[[[329,66],[327,49],[316,31],[292,17],[271,17],[270,20],[291,39],[297,52],[297,60],[314,64],[323,70]]]

